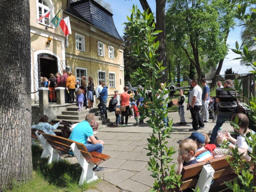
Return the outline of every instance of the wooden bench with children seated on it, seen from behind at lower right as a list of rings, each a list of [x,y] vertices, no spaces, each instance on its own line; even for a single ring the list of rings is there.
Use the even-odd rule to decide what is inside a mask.
[[[212,172],[205,173],[211,168]],[[184,166],[181,175],[183,183],[180,191],[195,186],[198,186],[201,191],[208,191],[210,188],[214,189],[224,184],[224,181],[234,180],[237,176],[226,161],[226,156],[214,158],[208,162]],[[214,182],[211,184],[212,180]]]

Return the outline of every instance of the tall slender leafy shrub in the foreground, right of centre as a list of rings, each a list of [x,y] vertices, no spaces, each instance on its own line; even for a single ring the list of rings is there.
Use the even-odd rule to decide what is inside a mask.
[[[168,98],[163,99],[169,91],[164,90],[160,85],[160,77],[165,67],[162,62],[158,62],[158,54],[156,53],[160,44],[156,41],[157,35],[161,32],[155,30],[154,16],[147,11],[143,13],[136,6],[132,7],[132,14],[125,24],[129,27],[126,34],[132,36],[133,52],[132,56],[137,61],[142,62],[142,66],[148,68],[151,76],[145,79],[144,89],[140,91],[140,95],[144,97],[144,107],[140,106],[139,111],[142,113],[140,119],[149,119],[146,121],[152,128],[152,134],[148,138],[148,162],[149,170],[152,171],[152,177],[156,178],[151,191],[166,192],[171,188],[180,186],[180,178],[175,172],[175,165],[171,165],[171,156],[175,153],[174,147],[167,147],[166,138],[170,138],[172,131],[172,121],[168,126],[164,126],[163,119],[167,116],[168,109],[166,104]],[[144,76],[141,68],[136,70],[138,80]],[[160,88],[164,91],[160,91]],[[148,92],[152,93],[152,100],[149,98]],[[160,98],[157,99],[157,94]],[[161,105],[162,104],[162,105]]]

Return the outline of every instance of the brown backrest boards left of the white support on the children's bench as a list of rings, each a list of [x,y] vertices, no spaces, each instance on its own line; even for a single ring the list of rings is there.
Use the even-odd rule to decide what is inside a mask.
[[[181,171],[182,180],[185,180],[195,175],[199,175],[202,167],[206,165],[206,163],[207,162],[199,162],[196,164],[196,166],[195,164],[184,166]]]

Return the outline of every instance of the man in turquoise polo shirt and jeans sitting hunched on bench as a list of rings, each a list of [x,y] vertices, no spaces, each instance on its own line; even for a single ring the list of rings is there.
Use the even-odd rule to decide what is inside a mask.
[[[69,139],[84,144],[88,152],[96,151],[102,153],[105,142],[102,140],[96,140],[94,137],[92,127],[90,126],[90,124],[93,123],[95,123],[94,114],[87,114],[85,120],[74,127]],[[98,166],[93,168],[94,171],[102,171],[104,169],[104,167]]]

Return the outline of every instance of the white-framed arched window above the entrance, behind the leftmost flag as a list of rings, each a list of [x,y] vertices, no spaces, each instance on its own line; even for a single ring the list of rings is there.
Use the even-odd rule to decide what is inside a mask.
[[[44,15],[46,12],[50,10],[52,7],[52,1],[50,0],[38,0],[37,1],[37,19],[39,19],[42,15]],[[52,9],[52,11],[54,11]],[[38,21],[42,24],[49,24],[49,19],[48,18],[42,18],[42,20]]]

